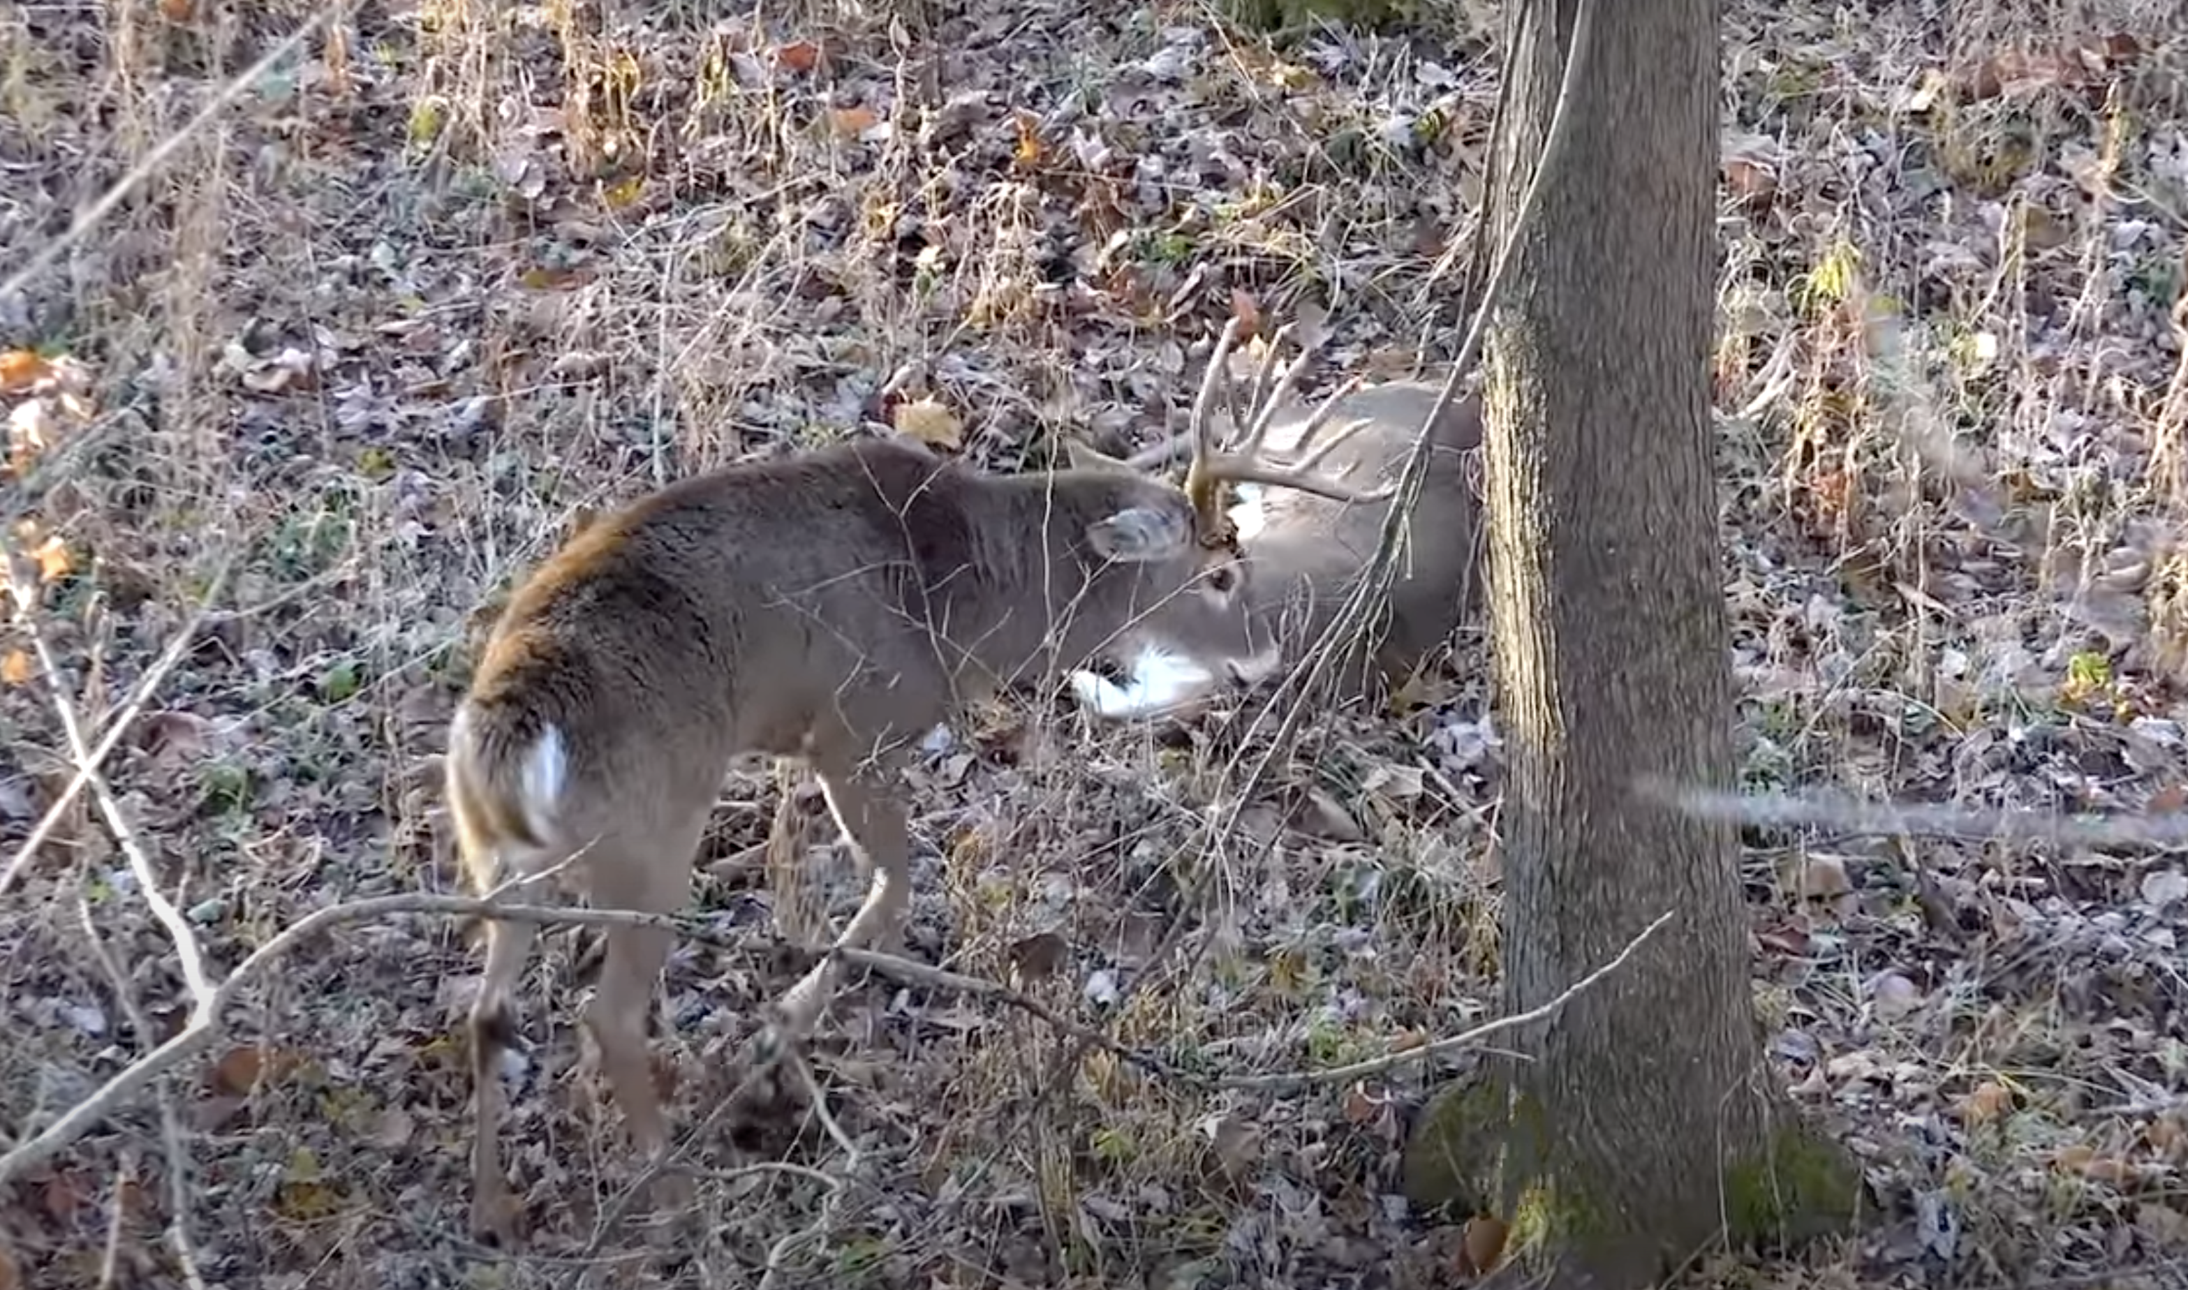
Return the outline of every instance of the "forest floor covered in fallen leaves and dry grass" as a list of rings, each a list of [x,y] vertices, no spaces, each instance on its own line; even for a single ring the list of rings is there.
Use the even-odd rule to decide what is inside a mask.
[[[0,855],[70,772],[39,638],[90,739],[158,682],[107,776],[223,973],[313,910],[457,890],[435,767],[473,610],[575,507],[893,422],[998,470],[1061,431],[1144,444],[1182,424],[1232,313],[1317,335],[1315,387],[1453,356],[1497,101],[1479,7],[1278,44],[1188,2],[901,9],[0,4],[7,273],[322,20],[0,293],[4,540],[44,582],[37,638],[0,641]],[[1750,789],[2188,800],[2175,17],[1729,4],[1715,372]],[[1873,380],[1871,295],[1904,310],[1934,450]],[[1394,711],[1319,717],[1221,846],[1221,715],[982,713],[912,776],[912,947],[1203,1076],[1464,1030],[1497,1004],[1486,704],[1468,641]],[[783,783],[724,791],[707,936],[667,971],[685,1126],[799,966],[744,864]],[[810,791],[785,820],[845,916]],[[1770,1058],[1858,1154],[1873,1213],[1691,1283],[2157,1286],[2092,1277],[2188,1255],[2179,859],[1744,840]],[[1155,962],[1188,894],[1186,947]],[[464,1233],[477,962],[455,918],[403,914],[243,988],[232,1034],[173,1069],[173,1133],[138,1098],[0,1189],[0,1288],[182,1283],[177,1146],[210,1286],[569,1283],[630,1178],[580,1078],[589,940],[549,936],[525,982],[512,1251]],[[0,1141],[188,1019],[88,798],[0,892]],[[1398,1146],[1473,1056],[1278,1091],[1107,1054],[1050,1080],[1063,1047],[996,997],[847,990],[812,1063],[831,1126],[702,1133],[700,1235],[654,1275],[1462,1281],[1459,1229],[1398,1198]]]

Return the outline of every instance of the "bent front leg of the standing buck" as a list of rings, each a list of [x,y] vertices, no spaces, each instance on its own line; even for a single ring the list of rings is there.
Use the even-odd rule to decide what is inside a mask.
[[[836,938],[836,949],[891,947],[904,929],[910,910],[912,855],[906,837],[904,809],[893,791],[893,763],[866,763],[840,750],[814,750],[814,772],[827,807],[842,824],[866,877],[866,899],[849,927]],[[794,1036],[812,1034],[836,993],[836,958],[823,958],[777,1004]]]

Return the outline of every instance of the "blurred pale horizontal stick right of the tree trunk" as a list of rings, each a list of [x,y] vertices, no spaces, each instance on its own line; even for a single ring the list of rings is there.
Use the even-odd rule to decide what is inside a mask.
[[[1930,802],[1864,802],[1851,794],[1729,794],[1645,778],[1634,791],[1702,820],[1836,833],[2048,842],[2052,846],[2188,846],[2188,811],[2065,816]]]

